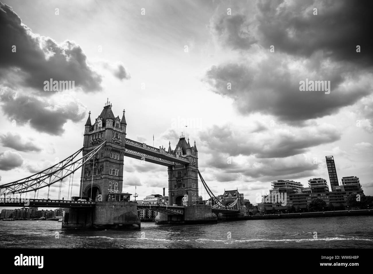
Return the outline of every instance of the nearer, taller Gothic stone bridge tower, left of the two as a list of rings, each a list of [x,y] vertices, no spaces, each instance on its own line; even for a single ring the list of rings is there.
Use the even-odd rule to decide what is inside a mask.
[[[89,112],[84,129],[83,155],[92,151],[106,140],[98,154],[82,168],[79,196],[90,197],[93,201],[99,194],[107,201],[108,193],[122,192],[123,158],[126,138],[126,118],[115,118],[109,99],[101,114],[91,124]]]

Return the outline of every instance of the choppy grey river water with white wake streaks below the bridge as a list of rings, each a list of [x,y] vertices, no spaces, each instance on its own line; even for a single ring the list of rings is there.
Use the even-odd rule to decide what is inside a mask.
[[[317,232],[317,239],[314,239]],[[58,235],[58,238],[56,236]],[[231,239],[228,239],[231,236]],[[62,230],[56,221],[0,221],[9,248],[372,248],[373,217],[248,220],[141,230]]]

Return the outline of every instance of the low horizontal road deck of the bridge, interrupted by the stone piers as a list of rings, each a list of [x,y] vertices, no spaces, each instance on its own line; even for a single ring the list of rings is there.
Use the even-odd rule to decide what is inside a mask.
[[[69,201],[69,200],[45,200],[45,199],[29,199],[28,202],[16,199],[14,202],[5,202],[4,198],[0,199],[1,207],[58,207],[58,208],[70,208],[70,207],[95,207],[96,203],[99,202],[88,202],[88,201]],[[180,205],[163,205],[163,204],[137,204],[137,210],[154,210],[157,212],[166,213],[169,215],[183,215],[184,206]],[[227,213],[234,214],[239,213],[239,210],[212,208],[213,213]]]

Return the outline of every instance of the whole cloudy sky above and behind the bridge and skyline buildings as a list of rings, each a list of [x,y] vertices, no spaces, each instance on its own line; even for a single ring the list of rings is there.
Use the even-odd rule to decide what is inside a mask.
[[[255,203],[274,180],[329,183],[326,155],[339,181],[358,176],[373,195],[371,10],[371,1],[1,0],[0,183],[81,148],[88,111],[97,117],[109,97],[115,116],[126,110],[128,138],[196,141],[216,195],[238,188]],[[50,78],[75,91],[44,91]],[[330,81],[330,94],[300,91],[306,78]],[[125,158],[124,169],[123,191],[137,185],[140,199],[168,186],[166,167]]]

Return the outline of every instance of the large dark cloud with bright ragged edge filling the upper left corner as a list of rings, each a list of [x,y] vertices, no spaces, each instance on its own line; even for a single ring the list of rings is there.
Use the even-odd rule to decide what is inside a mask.
[[[72,41],[57,44],[49,37],[31,32],[21,23],[12,7],[0,2],[0,76],[21,76],[20,84],[37,89],[44,94],[44,81],[75,81],[75,87],[84,91],[101,90],[101,76],[87,64],[81,47]],[[16,52],[12,52],[13,45]],[[118,68],[118,75],[123,77]]]

